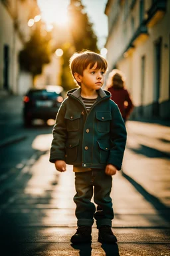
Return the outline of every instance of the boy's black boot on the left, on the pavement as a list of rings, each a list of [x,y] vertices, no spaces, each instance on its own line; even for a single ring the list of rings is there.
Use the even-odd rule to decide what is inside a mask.
[[[71,238],[71,243],[87,243],[92,241],[92,227],[80,226]]]

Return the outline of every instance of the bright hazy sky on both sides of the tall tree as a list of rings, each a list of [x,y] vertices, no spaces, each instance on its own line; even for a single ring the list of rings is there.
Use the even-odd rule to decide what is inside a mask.
[[[101,49],[106,43],[108,35],[108,18],[104,9],[108,0],[82,0],[86,13],[92,22],[93,29],[98,36],[98,47]],[[66,23],[67,6],[69,0],[37,0],[42,11],[42,19],[48,23]]]

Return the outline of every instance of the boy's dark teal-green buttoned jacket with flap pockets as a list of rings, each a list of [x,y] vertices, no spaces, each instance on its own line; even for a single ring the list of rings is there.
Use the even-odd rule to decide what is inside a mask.
[[[104,168],[122,167],[126,147],[126,127],[118,105],[108,91],[98,90],[98,99],[87,113],[81,88],[68,91],[56,115],[52,131],[50,162],[64,160],[69,165]]]

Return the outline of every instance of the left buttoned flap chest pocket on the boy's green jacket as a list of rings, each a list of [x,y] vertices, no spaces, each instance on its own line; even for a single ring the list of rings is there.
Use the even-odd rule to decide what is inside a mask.
[[[64,118],[66,119],[67,131],[78,131],[80,125],[80,112],[68,111]]]

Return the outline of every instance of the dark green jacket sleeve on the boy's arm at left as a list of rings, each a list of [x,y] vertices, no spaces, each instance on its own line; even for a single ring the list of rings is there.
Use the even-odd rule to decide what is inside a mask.
[[[64,105],[64,101],[58,110],[56,115],[56,123],[52,130],[52,144],[50,148],[50,159],[51,163],[55,163],[56,160],[66,160],[66,119],[64,119],[66,113],[66,107]]]

